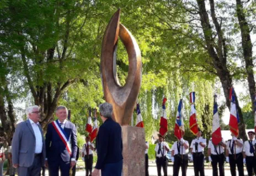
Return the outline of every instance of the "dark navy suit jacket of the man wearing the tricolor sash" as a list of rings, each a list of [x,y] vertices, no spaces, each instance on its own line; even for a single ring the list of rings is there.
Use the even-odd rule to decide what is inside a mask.
[[[60,136],[58,136],[54,126],[50,123],[47,127],[47,132],[45,135],[45,145],[46,145],[46,158],[48,161],[56,161],[60,157],[64,162],[68,162],[71,158],[76,159],[77,154],[77,131],[76,126],[70,121],[66,121],[64,131],[70,138],[71,144],[71,156],[68,153],[66,146],[62,142]]]

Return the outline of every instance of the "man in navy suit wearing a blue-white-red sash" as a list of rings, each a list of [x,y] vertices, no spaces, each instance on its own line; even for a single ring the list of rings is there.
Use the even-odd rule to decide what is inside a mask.
[[[70,169],[76,164],[77,131],[76,126],[67,119],[67,108],[58,106],[57,120],[51,122],[46,133],[46,167],[51,176],[69,176]]]

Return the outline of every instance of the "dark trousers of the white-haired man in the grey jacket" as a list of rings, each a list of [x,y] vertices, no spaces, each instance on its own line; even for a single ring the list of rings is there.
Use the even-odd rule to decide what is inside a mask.
[[[19,176],[39,176],[40,172],[41,172],[41,156],[40,155],[35,156],[32,166],[18,167]]]

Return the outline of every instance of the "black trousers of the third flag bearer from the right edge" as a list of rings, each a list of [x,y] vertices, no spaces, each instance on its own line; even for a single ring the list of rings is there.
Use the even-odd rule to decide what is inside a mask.
[[[220,176],[225,175],[224,171],[224,162],[225,162],[225,155],[222,154],[211,154],[211,165],[212,165],[212,175],[218,176],[218,172],[220,173]]]

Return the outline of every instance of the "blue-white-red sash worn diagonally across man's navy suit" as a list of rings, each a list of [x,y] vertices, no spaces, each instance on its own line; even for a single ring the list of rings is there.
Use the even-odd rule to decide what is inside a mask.
[[[52,126],[54,126],[54,129],[56,130],[58,136],[61,138],[61,141],[64,143],[64,145],[67,148],[68,153],[71,155],[71,147],[70,147],[70,143],[69,141],[69,137],[66,133],[66,131],[64,131],[60,125],[60,123],[58,122],[58,120],[51,122]]]

